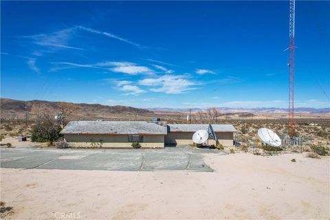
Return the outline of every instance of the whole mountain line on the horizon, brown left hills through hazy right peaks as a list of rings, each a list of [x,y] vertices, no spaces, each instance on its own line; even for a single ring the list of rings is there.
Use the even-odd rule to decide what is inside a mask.
[[[21,101],[9,98],[0,98],[1,118],[21,118],[25,117],[32,119],[38,117],[41,113],[47,111],[56,115],[59,111],[58,104],[60,102],[50,102],[43,100]],[[167,113],[186,113],[189,109],[179,108],[148,108],[139,109],[134,107],[126,107],[121,105],[108,106],[102,104],[85,104],[64,102],[73,104],[75,111],[74,116],[78,120],[136,120],[135,116],[139,115],[140,120],[144,118],[159,117]],[[286,113],[287,109],[281,108],[217,108],[221,113]],[[192,112],[205,111],[206,109],[194,108]],[[315,109],[315,108],[296,108],[299,113],[330,113],[330,108]],[[162,116],[161,116],[162,117]]]

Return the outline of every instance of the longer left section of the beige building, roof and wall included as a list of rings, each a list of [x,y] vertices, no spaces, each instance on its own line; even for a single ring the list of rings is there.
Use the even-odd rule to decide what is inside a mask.
[[[154,122],[72,121],[61,134],[76,147],[131,148],[140,142],[143,148],[164,148],[167,128]]]

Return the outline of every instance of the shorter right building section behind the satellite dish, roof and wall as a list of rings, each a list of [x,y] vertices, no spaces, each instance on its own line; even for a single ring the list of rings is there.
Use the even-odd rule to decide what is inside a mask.
[[[165,144],[192,144],[192,135],[198,130],[208,131],[209,124],[168,124]],[[237,130],[232,124],[211,124],[219,143],[223,146],[234,144],[234,132]],[[208,144],[215,144],[214,140],[208,140]]]

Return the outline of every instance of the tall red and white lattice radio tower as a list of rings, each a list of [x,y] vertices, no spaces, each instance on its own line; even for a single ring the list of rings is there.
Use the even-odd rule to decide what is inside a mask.
[[[290,0],[289,28],[289,136],[294,137],[294,10],[295,0]]]

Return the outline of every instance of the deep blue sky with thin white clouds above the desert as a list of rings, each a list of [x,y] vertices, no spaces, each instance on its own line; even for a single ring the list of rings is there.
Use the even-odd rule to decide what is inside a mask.
[[[288,1],[1,1],[1,97],[287,107]],[[296,1],[296,107],[329,107],[330,1]]]

